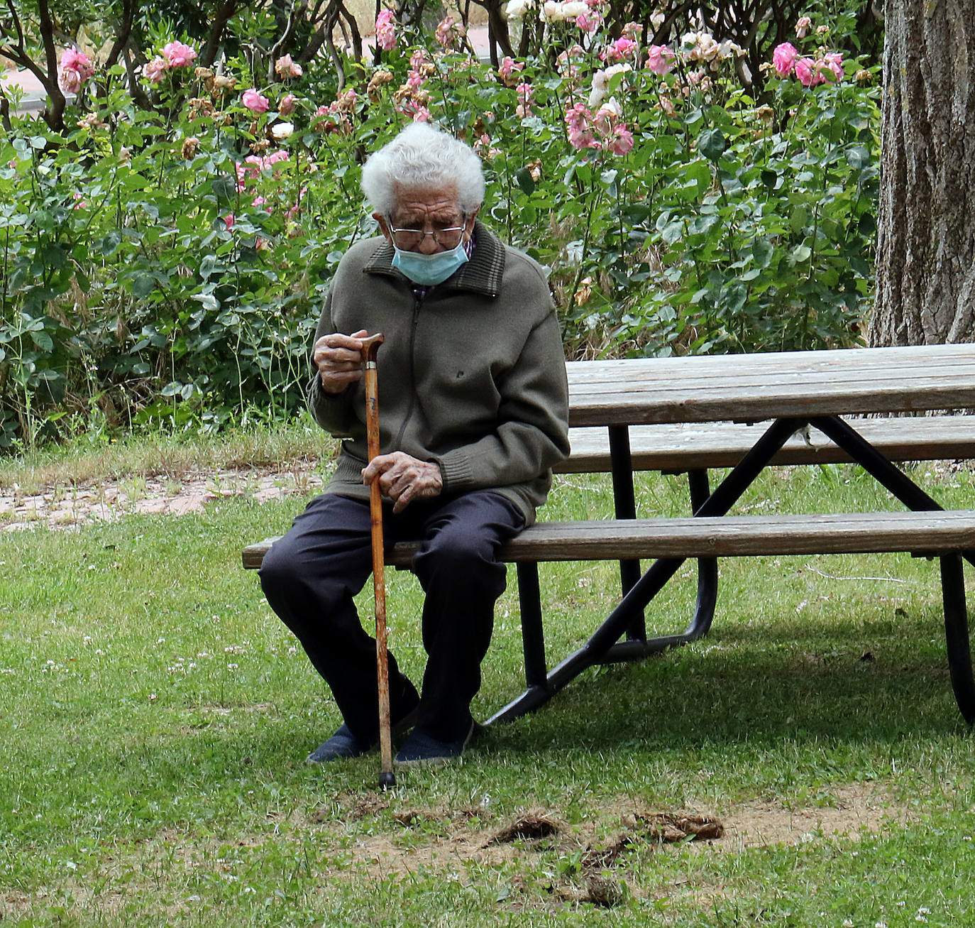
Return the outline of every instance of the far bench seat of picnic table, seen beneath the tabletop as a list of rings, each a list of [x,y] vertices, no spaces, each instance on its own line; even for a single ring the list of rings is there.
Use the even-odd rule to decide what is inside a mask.
[[[975,458],[975,416],[910,416],[850,419],[888,461]],[[733,467],[755,444],[765,423],[681,423],[630,426],[634,470],[681,472]],[[604,473],[610,469],[609,439],[601,426],[569,429],[572,453],[557,473]],[[772,464],[843,464],[849,456],[825,435],[794,435]]]

